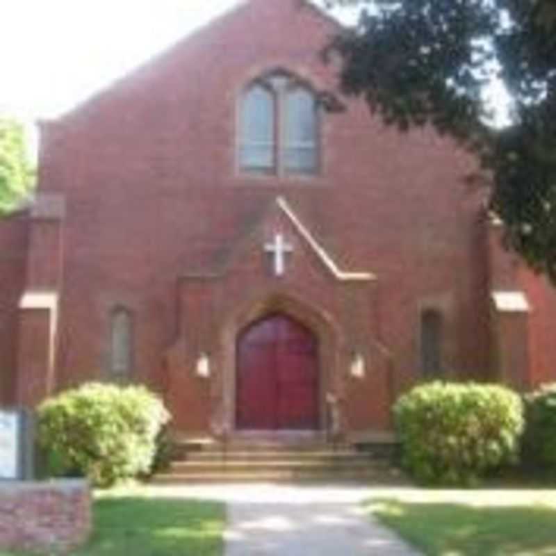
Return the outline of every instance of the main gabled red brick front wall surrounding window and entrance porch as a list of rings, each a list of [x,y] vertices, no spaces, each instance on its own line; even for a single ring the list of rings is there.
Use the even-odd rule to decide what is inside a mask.
[[[334,28],[297,6],[256,0],[238,8],[44,124],[40,188],[67,196],[60,386],[104,376],[115,304],[134,313],[136,375],[158,389],[168,384],[164,354],[182,334],[179,277],[214,272],[277,195],[339,265],[377,275],[366,309],[373,335],[393,354],[397,389],[419,376],[423,308],[445,315],[452,373],[480,375],[489,365],[480,202],[464,184],[473,163],[450,141],[430,130],[400,135],[363,103],[346,101],[345,113],[322,117],[317,177],[238,172],[236,105],[251,78],[283,67],[317,90],[337,87],[336,70],[319,56]],[[257,272],[249,287],[268,293],[268,276]],[[290,288],[318,300],[327,297],[321,284],[308,273]],[[215,302],[239,294],[219,295]],[[357,306],[351,311],[356,322]],[[370,399],[358,398],[354,418]],[[172,409],[206,423],[204,403]]]

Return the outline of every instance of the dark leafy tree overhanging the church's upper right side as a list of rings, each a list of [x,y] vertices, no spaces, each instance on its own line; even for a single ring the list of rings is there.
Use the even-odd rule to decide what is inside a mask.
[[[556,283],[556,0],[323,0],[361,6],[326,49],[341,84],[401,130],[432,125],[474,152],[507,245]],[[511,121],[493,125],[498,80]]]

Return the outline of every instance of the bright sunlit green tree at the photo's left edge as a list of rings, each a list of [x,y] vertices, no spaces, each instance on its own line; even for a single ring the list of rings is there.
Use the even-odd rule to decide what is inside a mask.
[[[23,126],[0,118],[0,214],[14,210],[29,195],[33,173],[27,159]]]

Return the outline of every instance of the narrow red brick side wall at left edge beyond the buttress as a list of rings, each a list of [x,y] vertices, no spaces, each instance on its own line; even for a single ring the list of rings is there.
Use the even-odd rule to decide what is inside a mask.
[[[0,404],[15,401],[17,306],[25,284],[26,213],[0,218]]]

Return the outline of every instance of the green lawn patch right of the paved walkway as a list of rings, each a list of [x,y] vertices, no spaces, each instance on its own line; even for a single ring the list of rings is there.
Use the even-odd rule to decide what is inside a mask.
[[[556,556],[556,509],[372,500],[379,521],[428,556]],[[500,502],[500,501],[498,501]]]

